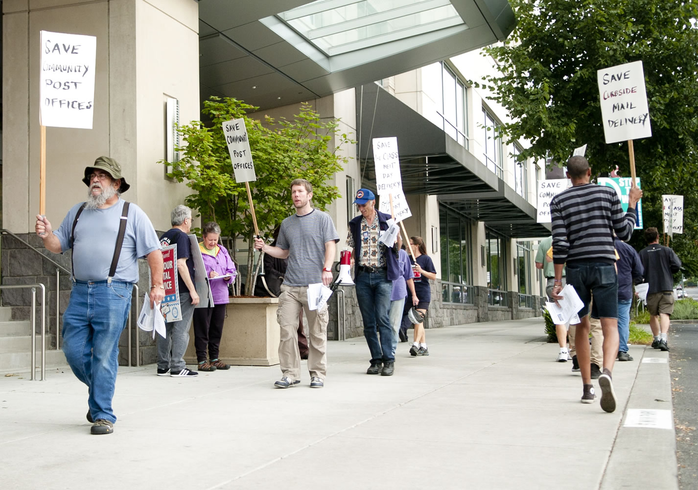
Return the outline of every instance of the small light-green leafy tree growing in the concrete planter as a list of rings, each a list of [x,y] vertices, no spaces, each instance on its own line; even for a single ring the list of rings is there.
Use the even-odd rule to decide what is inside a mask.
[[[202,113],[210,123],[193,121],[179,127],[184,144],[178,147],[181,159],[172,165],[170,177],[186,182],[193,194],[187,206],[200,212],[205,220],[216,221],[223,236],[243,236],[248,243],[254,235],[250,202],[244,182],[235,182],[232,162],[225,143],[222,124],[243,118],[257,180],[250,182],[255,217],[262,236],[270,236],[295,209],[290,183],[297,178],[313,185],[313,206],[325,210],[339,197],[331,185],[334,173],[341,171],[347,158],[339,154],[342,145],[353,143],[347,134],[339,134],[338,120],[321,120],[308,104],[300,107],[293,120],[254,120],[248,112],[257,107],[232,98],[216,96],[204,102]],[[237,261],[235,247],[233,260]],[[246,291],[253,291],[253,250],[248,247]]]

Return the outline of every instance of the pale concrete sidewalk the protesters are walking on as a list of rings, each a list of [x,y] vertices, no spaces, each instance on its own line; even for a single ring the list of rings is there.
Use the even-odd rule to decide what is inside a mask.
[[[540,318],[429,330],[431,355],[399,344],[392,377],[364,374],[363,338],[331,342],[323,389],[307,372],[274,389],[279,366],[121,368],[106,436],[89,434],[68,368],[0,377],[1,487],[677,489],[673,417],[622,426],[628,408],[671,410],[669,364],[641,362],[667,353],[630,347],[607,414],[579,402],[579,373],[543,330]]]

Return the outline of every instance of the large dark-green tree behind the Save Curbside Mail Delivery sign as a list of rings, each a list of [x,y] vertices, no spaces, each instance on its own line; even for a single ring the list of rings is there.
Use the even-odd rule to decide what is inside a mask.
[[[528,140],[521,159],[564,163],[588,145],[595,174],[630,176],[628,144],[604,143],[596,72],[641,60],[652,137],[634,140],[644,226],[662,231],[662,194],[685,196],[684,233],[671,246],[698,273],[698,0],[510,0],[518,24],[485,50],[500,75],[484,82],[514,122],[506,140]],[[632,243],[644,246],[641,233]]]

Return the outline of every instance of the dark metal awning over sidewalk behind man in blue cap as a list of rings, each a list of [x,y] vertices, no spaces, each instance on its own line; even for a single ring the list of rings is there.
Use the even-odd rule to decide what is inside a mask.
[[[373,138],[396,136],[405,194],[436,195],[440,203],[510,238],[549,236],[533,206],[442,129],[376,83],[357,88],[362,185],[375,188]]]

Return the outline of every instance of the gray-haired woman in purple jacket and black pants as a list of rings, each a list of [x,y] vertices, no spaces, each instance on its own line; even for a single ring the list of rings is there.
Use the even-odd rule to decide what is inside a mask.
[[[223,245],[218,245],[220,236],[221,226],[211,221],[204,225],[203,239],[199,243],[206,275],[211,284],[211,293],[214,296],[213,305],[209,304],[208,308],[194,310],[194,347],[200,371],[230,369],[230,365],[218,359],[218,348],[221,346],[225,308],[228,304],[228,284],[235,280],[237,270],[228,250],[225,250]],[[221,278],[221,276],[228,277]],[[206,360],[207,350],[209,361]]]

